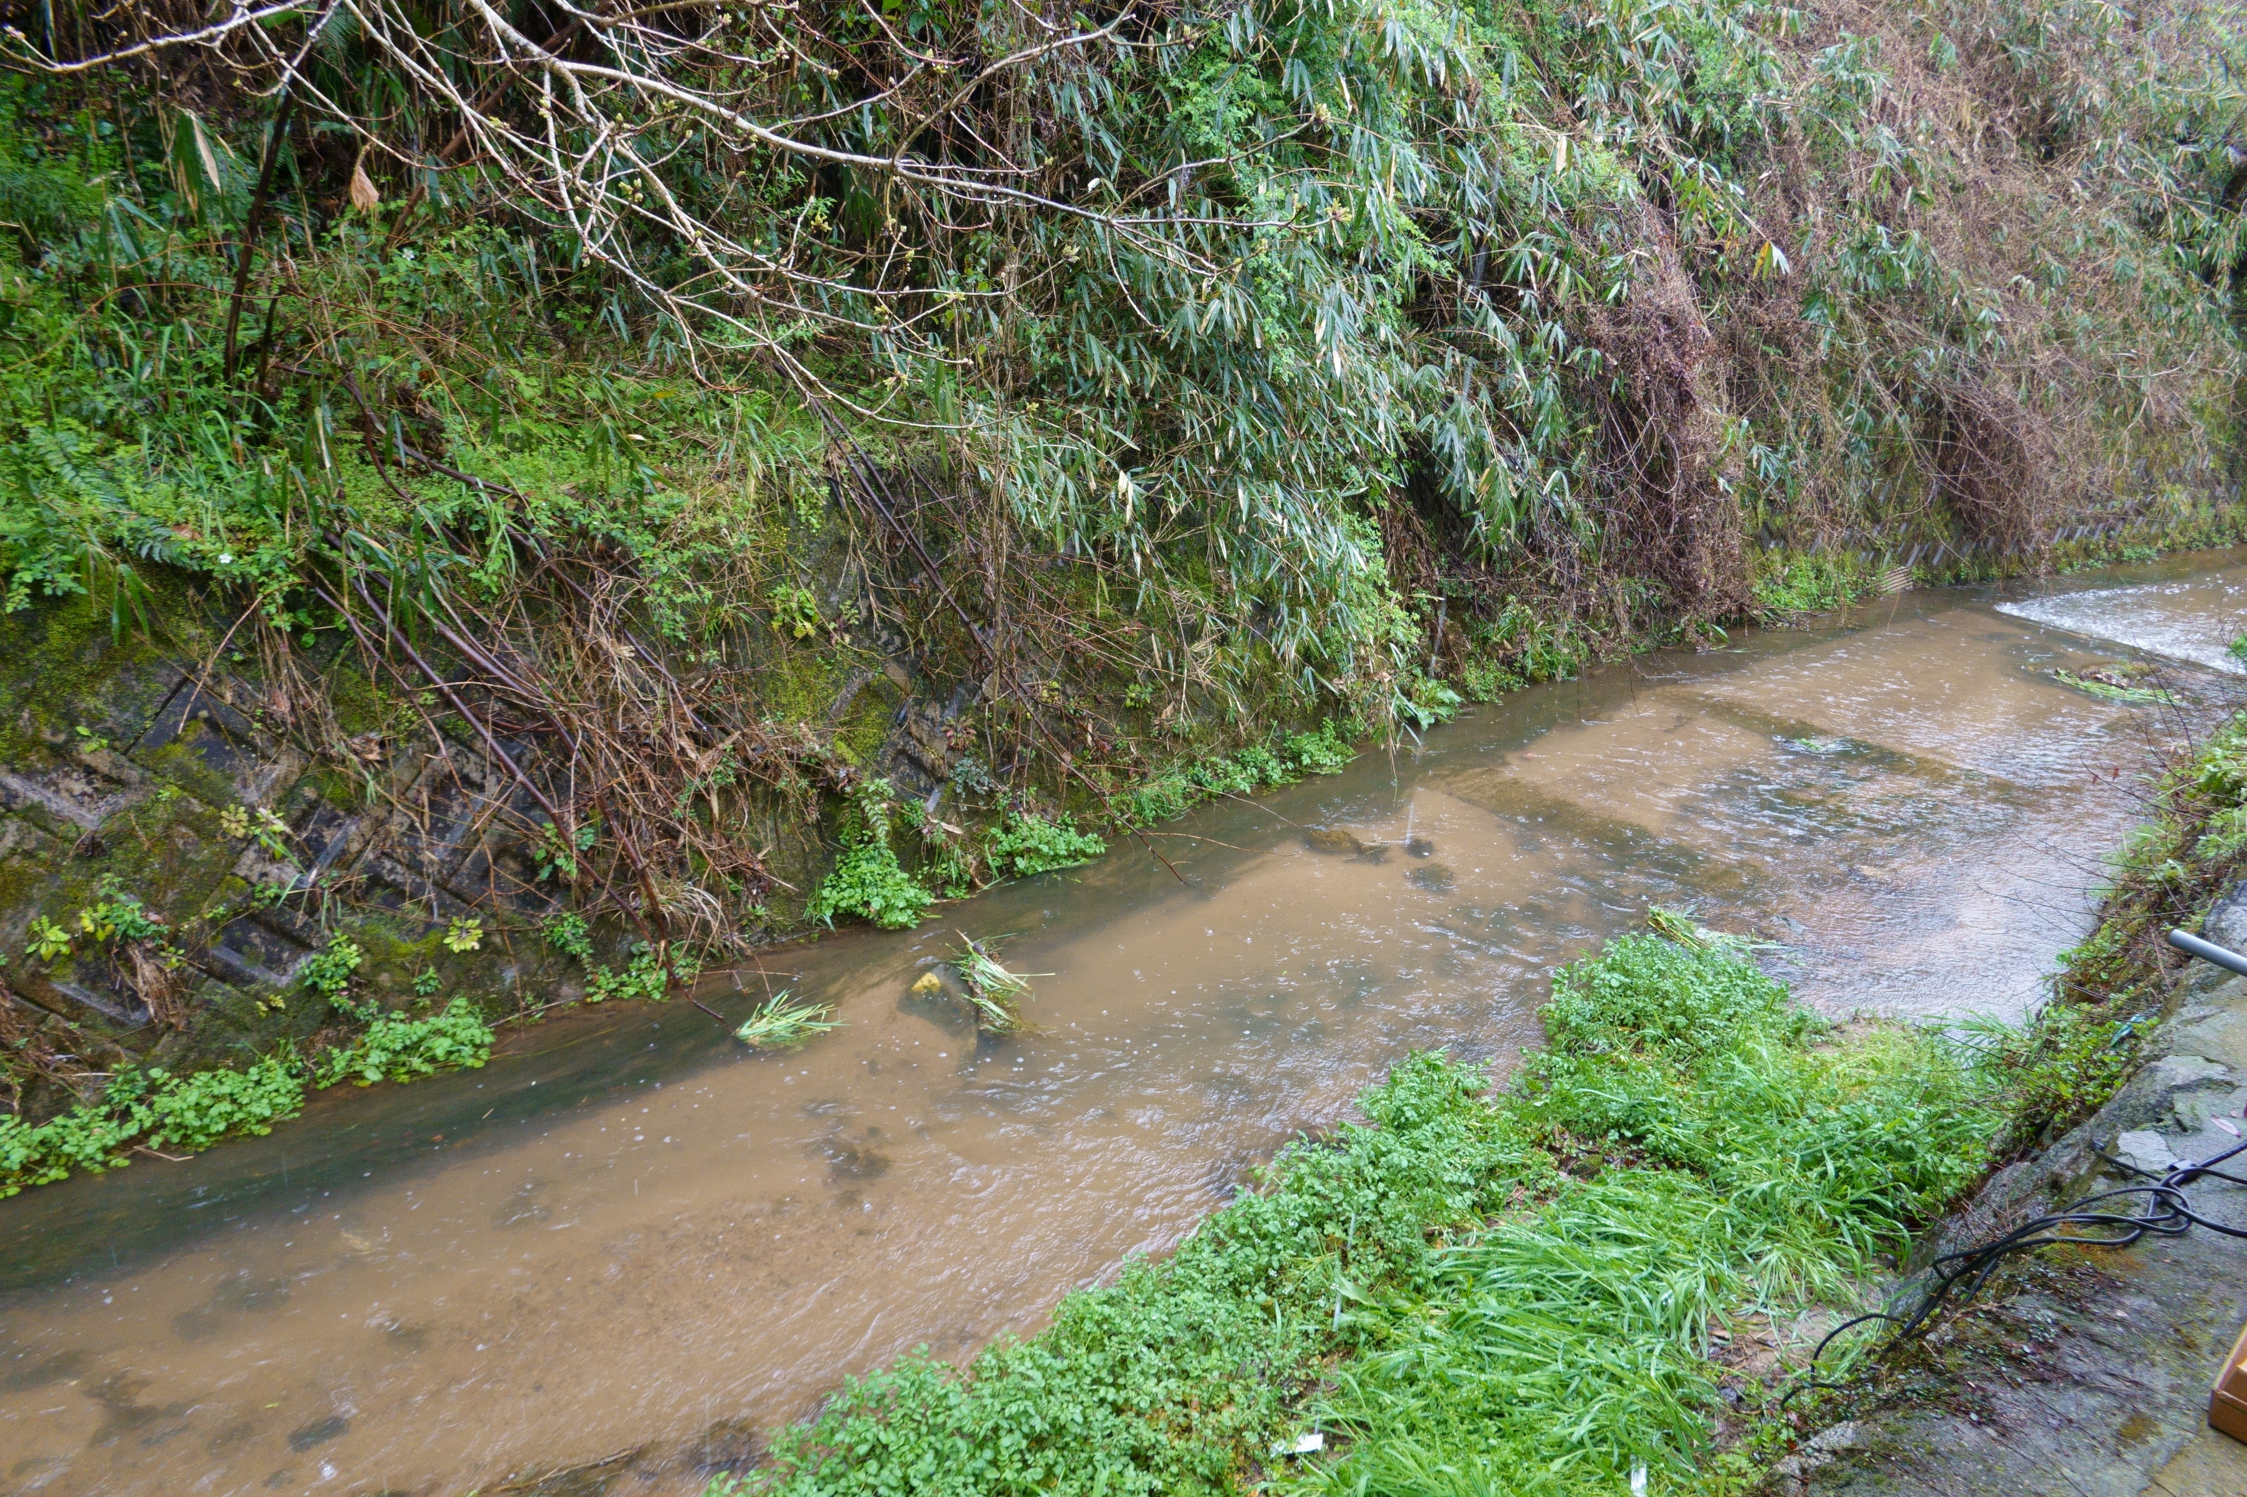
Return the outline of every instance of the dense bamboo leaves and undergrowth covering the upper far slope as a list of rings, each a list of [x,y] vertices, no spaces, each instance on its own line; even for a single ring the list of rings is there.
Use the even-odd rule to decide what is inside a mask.
[[[822,391],[885,411],[852,417],[876,449],[935,433],[955,485],[1040,545],[1106,557],[1141,604],[1157,577],[1200,597],[1234,669],[1263,655],[1339,680],[1389,642],[1400,599],[1368,505],[1407,487],[1461,518],[1470,554],[1607,557],[1672,606],[1735,588],[1741,530],[1784,530],[1804,503],[1883,516],[1932,480],[1955,514],[1926,534],[2034,536],[2049,516],[2002,512],[1998,478],[2067,487],[2085,474],[2052,460],[2074,453],[2182,480],[2198,469],[2180,451],[2207,453],[2193,417],[2225,413],[2231,20],[1180,4],[1045,47],[968,103],[845,9],[712,13],[665,58],[616,43],[620,63],[811,119],[755,146],[618,94],[598,128],[647,150],[631,159],[685,218],[602,218],[616,204],[595,193],[604,231],[584,238],[497,166],[431,175],[413,153],[377,155],[391,202],[348,213],[324,195],[342,182],[317,132],[283,141],[252,301],[276,321],[240,339],[247,391],[211,316],[256,112],[229,130],[18,83],[0,121],[7,332],[27,350],[7,395],[9,595],[157,559],[276,597],[328,563],[490,584],[521,563],[524,527],[627,550],[654,617],[708,628],[694,617],[766,593],[809,599],[715,588],[755,523],[712,480],[807,474]],[[782,25],[775,61],[762,43]],[[1022,27],[937,7],[908,31],[1004,56]],[[310,81],[373,110],[384,56],[337,27]],[[910,76],[845,108],[885,56]],[[499,114],[535,114],[515,74],[488,85]],[[998,123],[1004,101],[1020,112]],[[402,103],[427,135],[449,108]],[[1964,132],[1977,110],[2016,144]],[[795,146],[843,157],[813,168]],[[921,150],[944,182],[1009,159],[1029,198],[966,206],[937,177],[870,171]],[[404,189],[422,189],[411,209]],[[739,249],[719,281],[762,305],[703,281],[719,249],[685,231],[701,213]],[[1991,215],[2004,231],[1977,233]],[[870,254],[881,233],[892,260]],[[1730,393],[1696,373],[1710,330]],[[2130,373],[2148,348],[2182,377]],[[726,377],[692,379],[712,366]],[[2132,433],[2126,451],[2090,444],[2101,424]],[[1692,554],[1634,534],[1647,505]],[[1490,624],[1505,599],[1467,601]],[[816,631],[816,608],[782,613]],[[1395,662],[1375,676],[1409,687]]]

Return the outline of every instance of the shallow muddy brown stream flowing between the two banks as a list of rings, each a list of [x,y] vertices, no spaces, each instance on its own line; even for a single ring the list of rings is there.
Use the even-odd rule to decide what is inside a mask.
[[[0,1493],[694,1493],[845,1374],[1166,1250],[1407,1050],[1503,1073],[1548,970],[1649,902],[1780,943],[1834,1012],[2018,1017],[2182,727],[2052,671],[2225,669],[2243,608],[2231,552],[1645,655],[1159,828],[1191,884],[1126,839],[703,992],[838,1003],[791,1055],[683,1001],[580,1010],[27,1192]],[[1034,1032],[908,994],[955,929],[1052,974]]]

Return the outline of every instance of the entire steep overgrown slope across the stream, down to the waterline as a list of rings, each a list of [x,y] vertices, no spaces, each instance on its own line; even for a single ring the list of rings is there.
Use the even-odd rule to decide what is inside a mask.
[[[220,1008],[247,1059],[409,983],[661,992],[1607,649],[2234,536],[2220,4],[58,0],[4,49],[40,1113]]]

